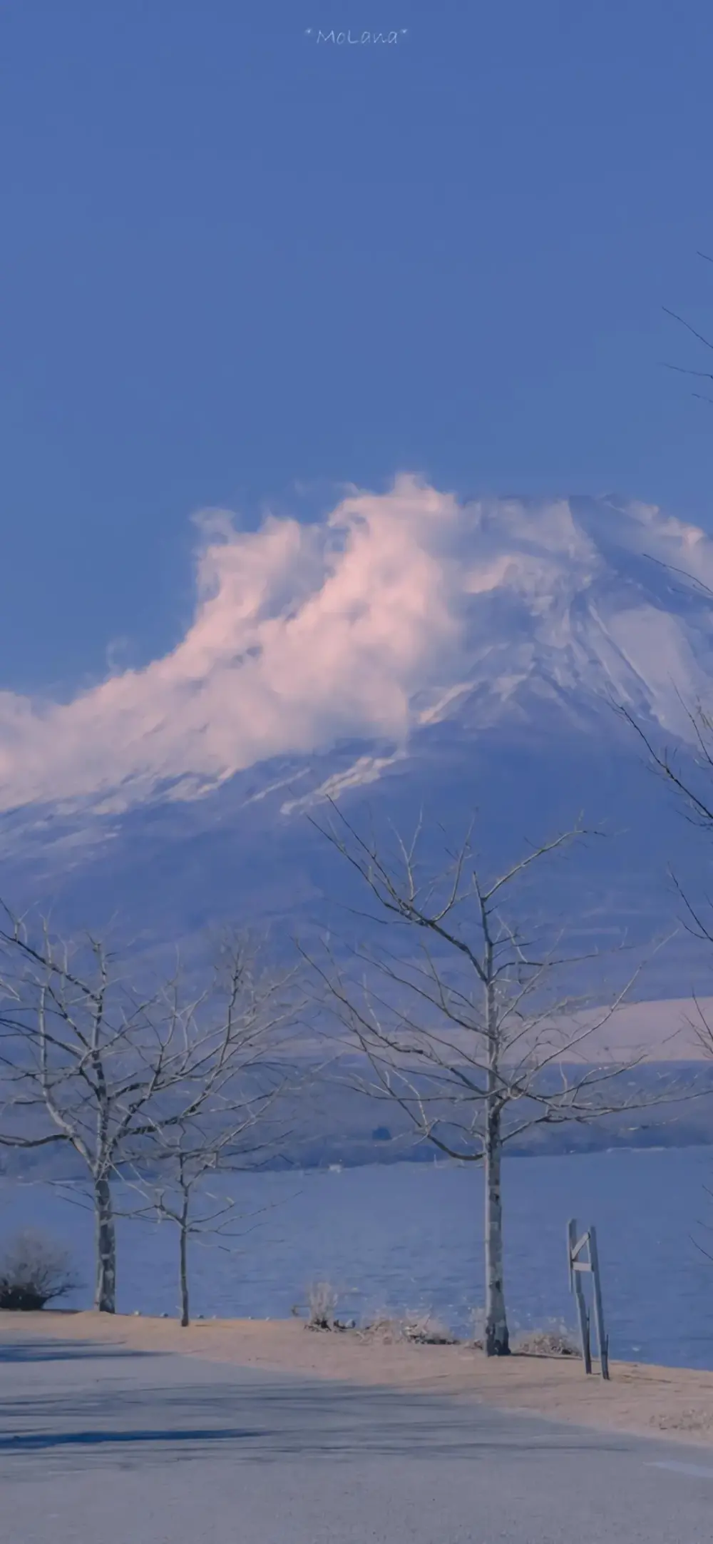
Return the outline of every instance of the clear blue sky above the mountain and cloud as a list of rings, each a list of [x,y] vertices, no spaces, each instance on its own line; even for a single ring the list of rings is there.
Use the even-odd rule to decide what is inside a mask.
[[[713,335],[710,5],[12,0],[0,26],[0,687],[176,644],[202,506],[309,517],[409,469],[713,530],[713,406],[661,367],[705,367],[662,306]]]

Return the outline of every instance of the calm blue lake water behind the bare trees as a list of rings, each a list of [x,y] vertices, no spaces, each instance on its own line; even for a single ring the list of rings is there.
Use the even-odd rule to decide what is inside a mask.
[[[574,1323],[566,1221],[596,1223],[613,1357],[713,1368],[713,1149],[511,1158],[505,1163],[506,1294],[512,1328]],[[193,1312],[278,1319],[329,1280],[340,1312],[432,1311],[468,1331],[483,1300],[482,1173],[397,1164],[233,1177],[244,1237],[191,1243]],[[42,1227],[71,1248],[91,1305],[93,1221],[48,1184],[0,1181],[0,1237]],[[174,1314],[177,1232],[122,1220],[122,1312]]]

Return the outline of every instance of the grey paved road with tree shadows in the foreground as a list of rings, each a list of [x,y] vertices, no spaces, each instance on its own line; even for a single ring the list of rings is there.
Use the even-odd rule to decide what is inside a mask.
[[[0,1343],[0,1544],[710,1544],[713,1454],[463,1399]]]

